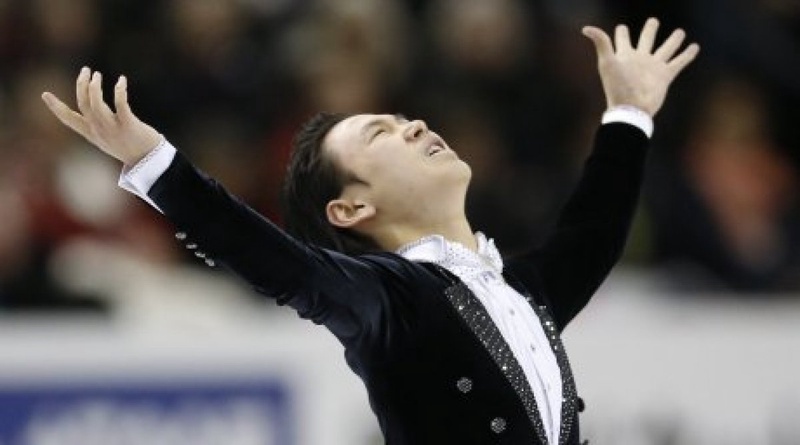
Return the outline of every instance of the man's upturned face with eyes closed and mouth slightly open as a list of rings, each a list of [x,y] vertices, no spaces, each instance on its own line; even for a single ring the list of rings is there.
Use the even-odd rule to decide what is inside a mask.
[[[422,121],[400,115],[359,114],[336,124],[325,138],[328,154],[366,184],[345,187],[390,223],[463,212],[471,171]]]

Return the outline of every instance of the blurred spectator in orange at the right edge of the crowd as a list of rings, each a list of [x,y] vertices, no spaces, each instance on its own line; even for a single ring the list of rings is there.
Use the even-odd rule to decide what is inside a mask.
[[[766,97],[721,78],[703,95],[680,175],[654,199],[658,259],[675,287],[800,288],[797,172],[776,146]]]

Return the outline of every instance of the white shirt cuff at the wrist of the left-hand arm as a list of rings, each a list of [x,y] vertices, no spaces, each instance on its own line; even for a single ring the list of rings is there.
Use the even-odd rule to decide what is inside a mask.
[[[147,156],[137,162],[136,165],[122,167],[122,173],[119,175],[117,184],[138,196],[159,212],[164,213],[147,194],[153,184],[172,164],[172,160],[175,159],[175,153],[177,153],[175,147],[166,139],[161,139],[156,148],[147,153]]]

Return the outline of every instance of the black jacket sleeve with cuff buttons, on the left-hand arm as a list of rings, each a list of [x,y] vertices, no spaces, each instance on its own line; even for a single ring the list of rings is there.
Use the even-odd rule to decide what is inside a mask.
[[[368,259],[295,240],[180,153],[148,195],[209,257],[340,340],[374,333],[385,322],[390,298]]]

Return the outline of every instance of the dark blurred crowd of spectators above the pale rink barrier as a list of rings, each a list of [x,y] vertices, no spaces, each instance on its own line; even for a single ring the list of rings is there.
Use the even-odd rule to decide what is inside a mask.
[[[513,253],[552,228],[605,106],[580,27],[651,15],[703,50],[657,117],[627,263],[674,289],[796,293],[800,3],[650,3],[0,0],[0,307],[103,312],[217,278],[41,103],[72,103],[81,66],[127,75],[142,120],[276,221],[315,111],[424,119],[473,168],[474,228]]]

